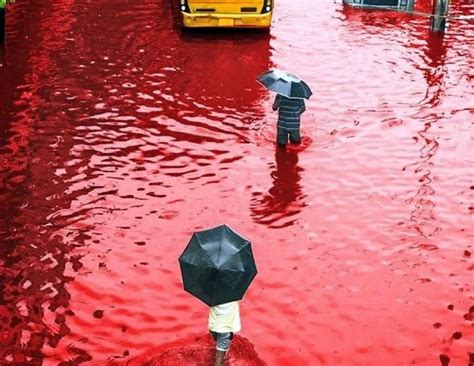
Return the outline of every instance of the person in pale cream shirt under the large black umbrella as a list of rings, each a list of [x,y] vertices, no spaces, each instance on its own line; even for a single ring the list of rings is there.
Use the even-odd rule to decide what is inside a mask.
[[[240,331],[239,302],[211,306],[209,308],[209,332],[216,341],[214,366],[223,366],[234,333]]]

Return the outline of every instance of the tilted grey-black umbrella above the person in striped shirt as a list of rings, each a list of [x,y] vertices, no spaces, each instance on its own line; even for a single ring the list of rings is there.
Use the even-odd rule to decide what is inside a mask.
[[[288,98],[308,99],[313,92],[303,80],[281,70],[270,70],[258,77],[267,89]]]

